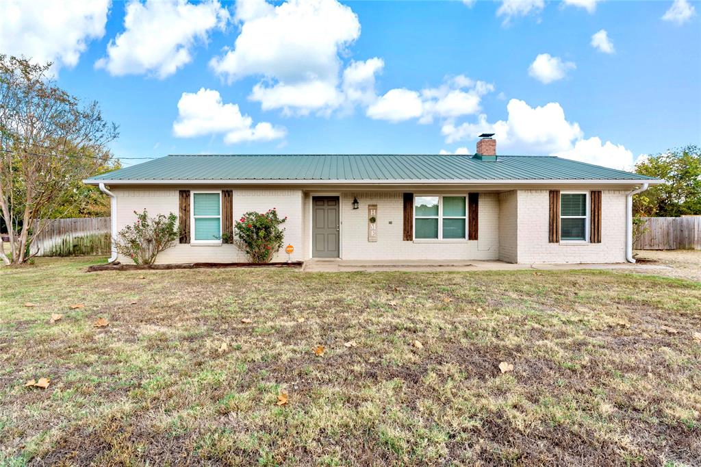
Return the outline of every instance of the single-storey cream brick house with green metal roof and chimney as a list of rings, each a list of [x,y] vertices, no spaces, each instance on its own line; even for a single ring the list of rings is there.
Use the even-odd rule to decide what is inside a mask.
[[[634,261],[632,194],[660,180],[499,156],[492,135],[481,136],[474,156],[173,155],[85,182],[111,196],[113,236],[135,210],[179,216],[182,236],[161,263],[246,261],[222,234],[271,208],[287,216],[293,260]],[[273,260],[287,259],[281,250]]]

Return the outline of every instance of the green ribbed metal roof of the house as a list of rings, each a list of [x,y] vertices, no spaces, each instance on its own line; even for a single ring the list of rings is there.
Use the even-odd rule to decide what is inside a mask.
[[[479,181],[479,180],[653,180],[554,156],[498,156],[480,161],[467,155],[436,154],[294,154],[172,155],[114,170],[88,183],[134,180],[339,180],[339,181]]]

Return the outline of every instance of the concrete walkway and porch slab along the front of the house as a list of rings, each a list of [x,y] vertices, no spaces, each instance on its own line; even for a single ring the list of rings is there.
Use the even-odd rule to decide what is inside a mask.
[[[567,271],[572,269],[617,269],[629,272],[647,272],[672,269],[660,264],[510,264],[502,261],[436,261],[430,259],[401,261],[351,261],[345,259],[310,259],[304,262],[305,272],[352,272],[352,271],[519,271],[540,269]]]

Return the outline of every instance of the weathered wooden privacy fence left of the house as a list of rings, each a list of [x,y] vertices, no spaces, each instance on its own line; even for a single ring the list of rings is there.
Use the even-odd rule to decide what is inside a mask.
[[[110,252],[109,217],[34,220],[32,229],[39,232],[31,248],[37,256],[109,255]]]

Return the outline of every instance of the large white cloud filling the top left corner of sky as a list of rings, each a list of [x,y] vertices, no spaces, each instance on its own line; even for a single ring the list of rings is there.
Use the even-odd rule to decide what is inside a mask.
[[[53,72],[77,65],[88,42],[104,36],[109,0],[4,0],[0,50],[34,62],[53,62]]]

